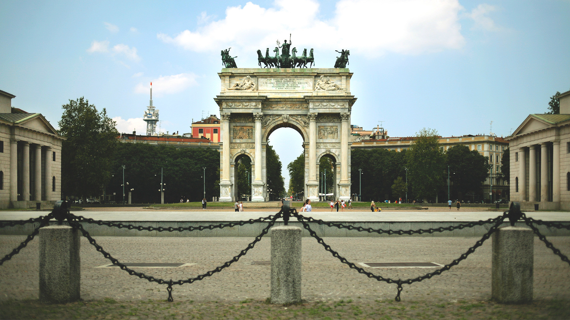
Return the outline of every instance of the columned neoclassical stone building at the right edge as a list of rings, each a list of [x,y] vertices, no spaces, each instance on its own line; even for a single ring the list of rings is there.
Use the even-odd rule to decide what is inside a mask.
[[[505,138],[511,201],[523,210],[570,210],[570,91],[557,97],[560,114],[530,114]]]

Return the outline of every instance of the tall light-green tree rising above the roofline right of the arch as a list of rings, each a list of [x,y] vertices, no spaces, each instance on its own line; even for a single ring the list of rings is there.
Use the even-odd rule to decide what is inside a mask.
[[[408,179],[412,182],[413,194],[426,201],[437,195],[443,185],[445,154],[439,147],[436,130],[424,128],[416,135],[416,141],[406,153]]]

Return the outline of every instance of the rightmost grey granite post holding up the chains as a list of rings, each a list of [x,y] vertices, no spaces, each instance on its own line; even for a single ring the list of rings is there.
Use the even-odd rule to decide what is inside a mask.
[[[491,297],[500,303],[532,301],[534,233],[502,227],[492,235]]]

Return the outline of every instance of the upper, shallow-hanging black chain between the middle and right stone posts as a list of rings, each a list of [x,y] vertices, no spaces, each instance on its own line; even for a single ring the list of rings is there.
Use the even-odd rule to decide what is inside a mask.
[[[454,231],[456,229],[463,229],[463,228],[472,228],[475,225],[484,225],[484,224],[488,224],[488,223],[495,223],[495,221],[498,220],[504,220],[504,216],[498,216],[497,218],[492,218],[492,219],[487,219],[487,220],[479,220],[479,221],[474,221],[474,222],[470,222],[470,223],[466,223],[466,224],[459,224],[459,225],[455,225],[455,226],[450,226],[450,227],[439,227],[439,228],[429,228],[429,229],[417,229],[417,230],[383,230],[383,229],[372,229],[372,228],[363,228],[363,227],[354,227],[352,225],[344,225],[342,223],[333,223],[333,222],[327,222],[327,221],[323,221],[320,219],[313,219],[311,217],[306,217],[300,214],[296,214],[294,215],[299,221],[301,222],[314,222],[316,224],[324,224],[327,225],[328,227],[337,227],[339,229],[344,228],[344,229],[349,229],[349,230],[356,230],[359,232],[375,232],[378,234],[382,234],[382,233],[387,233],[388,235],[413,235],[414,233],[418,233],[418,234],[423,234],[423,233],[434,233],[434,232],[443,232],[443,231]]]

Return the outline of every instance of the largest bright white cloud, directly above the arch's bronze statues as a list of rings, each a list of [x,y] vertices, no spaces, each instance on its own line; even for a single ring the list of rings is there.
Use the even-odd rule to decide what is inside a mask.
[[[277,0],[275,4],[269,9],[251,2],[228,7],[224,19],[157,38],[197,52],[232,46],[251,52],[275,46],[276,39],[283,41],[292,33],[294,44],[348,48],[371,57],[386,51],[422,54],[458,49],[465,43],[458,22],[463,7],[457,0],[340,0],[331,20],[319,19],[319,3],[314,0]],[[198,20],[206,17],[202,13]]]

